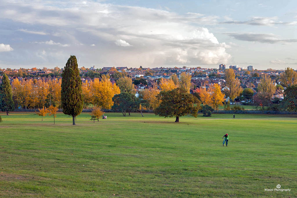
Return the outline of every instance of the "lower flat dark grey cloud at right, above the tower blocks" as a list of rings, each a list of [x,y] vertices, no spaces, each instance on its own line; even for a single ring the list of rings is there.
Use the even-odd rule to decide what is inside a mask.
[[[254,41],[261,43],[291,43],[297,42],[297,39],[280,39],[275,34],[261,34],[261,33],[226,33],[230,37],[242,41]]]

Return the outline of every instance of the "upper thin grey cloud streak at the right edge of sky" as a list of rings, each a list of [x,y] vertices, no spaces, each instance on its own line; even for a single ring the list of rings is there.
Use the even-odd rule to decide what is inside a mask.
[[[228,21],[224,21],[221,23],[246,24],[246,25],[253,25],[253,26],[274,26],[274,25],[296,25],[297,21],[282,22],[282,21],[277,21],[277,17],[253,17],[250,20],[246,20],[246,21],[236,21],[229,18]]]

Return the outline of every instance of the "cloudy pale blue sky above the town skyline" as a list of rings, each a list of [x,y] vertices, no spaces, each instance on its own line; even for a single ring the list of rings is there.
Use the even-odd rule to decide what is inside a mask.
[[[0,67],[297,68],[297,1],[0,0]]]

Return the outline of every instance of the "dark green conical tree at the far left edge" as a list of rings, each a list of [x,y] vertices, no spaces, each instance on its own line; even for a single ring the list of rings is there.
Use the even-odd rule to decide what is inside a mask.
[[[2,77],[2,83],[0,85],[0,110],[8,111],[15,110],[15,103],[12,100],[12,89],[7,75],[4,73]]]

